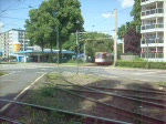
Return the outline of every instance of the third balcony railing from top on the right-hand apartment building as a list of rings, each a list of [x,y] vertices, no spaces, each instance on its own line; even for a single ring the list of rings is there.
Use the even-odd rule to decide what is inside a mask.
[[[142,44],[147,44],[147,43],[164,43],[164,39],[155,38],[155,39],[143,39],[142,40]]]

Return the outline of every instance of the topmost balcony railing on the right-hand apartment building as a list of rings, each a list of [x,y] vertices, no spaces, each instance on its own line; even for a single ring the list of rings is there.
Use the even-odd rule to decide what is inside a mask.
[[[164,13],[164,9],[163,8],[158,8],[158,9],[152,9],[152,10],[142,11],[142,17],[154,14],[154,13]]]

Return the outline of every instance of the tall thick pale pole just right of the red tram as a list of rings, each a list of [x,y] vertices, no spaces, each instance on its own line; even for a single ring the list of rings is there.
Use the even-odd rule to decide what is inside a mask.
[[[117,63],[117,9],[114,10],[115,13],[115,39],[114,39],[114,66]]]

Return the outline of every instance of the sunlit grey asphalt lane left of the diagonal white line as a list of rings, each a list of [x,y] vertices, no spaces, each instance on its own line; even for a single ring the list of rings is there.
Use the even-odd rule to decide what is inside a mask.
[[[17,68],[12,65],[12,68],[10,66],[9,69],[9,66],[3,68],[8,71],[10,71],[10,69]],[[0,70],[2,68],[0,68]],[[11,70],[9,74],[0,76],[0,97],[13,100],[21,91],[23,91],[27,86],[33,83],[44,72],[39,73],[28,69]],[[0,110],[4,104],[6,104],[4,102],[0,102]]]

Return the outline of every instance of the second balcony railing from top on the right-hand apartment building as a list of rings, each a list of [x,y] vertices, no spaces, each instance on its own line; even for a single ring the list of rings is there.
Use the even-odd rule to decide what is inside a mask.
[[[142,25],[142,30],[157,29],[157,28],[164,28],[164,24],[163,23],[155,23],[155,24]]]

